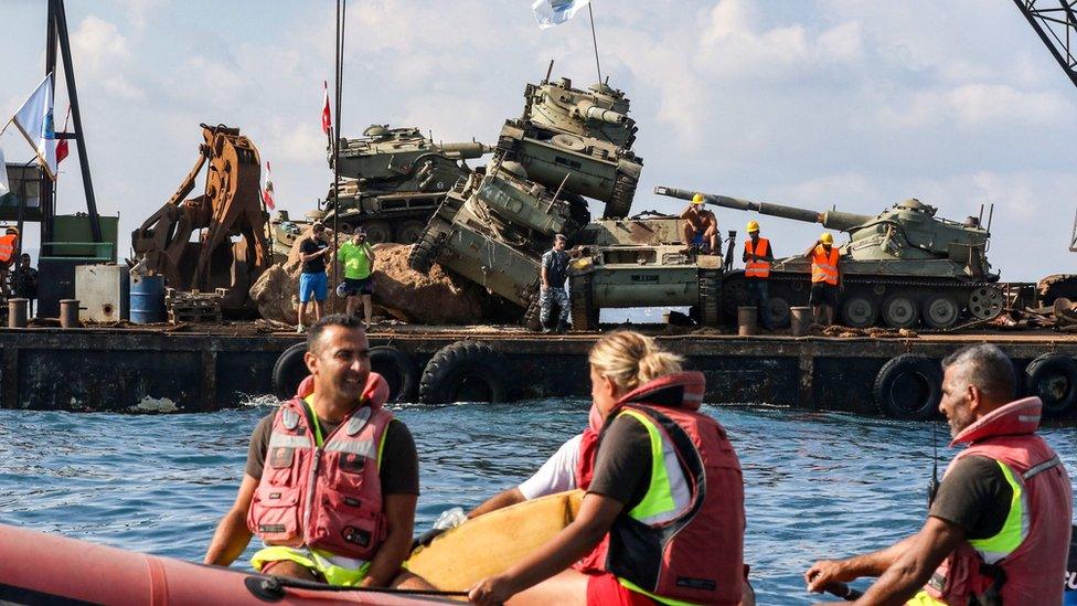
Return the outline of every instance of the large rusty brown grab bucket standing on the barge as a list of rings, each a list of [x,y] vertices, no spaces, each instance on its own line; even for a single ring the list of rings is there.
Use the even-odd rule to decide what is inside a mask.
[[[271,256],[262,208],[258,148],[238,128],[202,126],[199,160],[172,198],[131,233],[135,257],[178,290],[228,289],[227,310],[254,307],[247,291]],[[186,199],[209,161],[205,192]],[[192,241],[192,235],[198,236]]]

